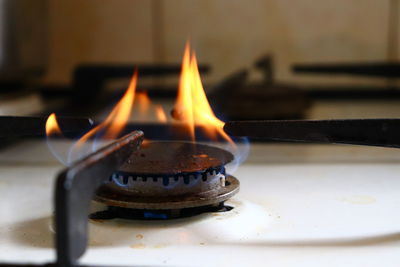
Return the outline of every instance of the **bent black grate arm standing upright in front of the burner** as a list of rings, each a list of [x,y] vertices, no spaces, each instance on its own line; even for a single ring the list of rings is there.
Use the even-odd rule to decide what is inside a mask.
[[[137,150],[143,132],[135,131],[62,171],[55,188],[57,264],[76,266],[87,246],[89,204],[95,190]]]

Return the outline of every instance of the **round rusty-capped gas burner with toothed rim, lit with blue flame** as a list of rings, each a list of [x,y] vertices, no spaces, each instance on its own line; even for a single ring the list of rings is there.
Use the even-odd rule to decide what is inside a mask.
[[[207,145],[145,143],[97,190],[95,200],[109,207],[108,217],[166,219],[225,211],[224,201],[239,191],[239,181],[225,173],[232,160],[230,152]]]

